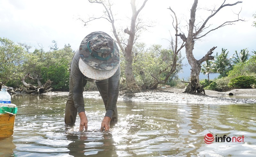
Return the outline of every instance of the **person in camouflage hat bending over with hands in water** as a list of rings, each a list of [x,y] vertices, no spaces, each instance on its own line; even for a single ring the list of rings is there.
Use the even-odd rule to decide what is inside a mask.
[[[105,32],[88,34],[75,52],[70,65],[69,94],[65,108],[65,123],[74,124],[77,113],[79,130],[87,130],[83,91],[87,81],[96,83],[106,114],[100,131],[108,131],[110,122],[117,122],[116,101],[119,94],[120,55],[115,41]]]

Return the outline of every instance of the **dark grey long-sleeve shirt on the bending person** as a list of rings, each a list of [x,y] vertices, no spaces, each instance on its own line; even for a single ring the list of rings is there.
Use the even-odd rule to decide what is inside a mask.
[[[73,101],[75,104],[75,107],[77,108],[77,112],[84,112],[84,98],[83,98],[83,91],[84,91],[84,86],[83,86],[83,79],[84,79],[84,74],[80,71],[78,63],[79,63],[80,55],[79,55],[79,50],[76,51],[72,63],[71,63],[71,92],[73,95]],[[93,80],[86,78],[88,81],[101,81],[101,80]],[[117,69],[116,73],[106,79],[108,80],[108,98],[107,98],[107,105],[106,105],[106,115],[110,118],[112,118],[113,112],[116,108],[116,101],[118,98],[118,93],[119,93],[119,80],[120,80],[120,65],[119,68]],[[70,85],[69,85],[70,86]],[[100,86],[99,86],[100,88]],[[104,98],[103,98],[104,99]]]

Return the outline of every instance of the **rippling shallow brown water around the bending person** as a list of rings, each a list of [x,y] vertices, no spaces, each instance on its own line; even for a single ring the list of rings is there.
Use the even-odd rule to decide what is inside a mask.
[[[14,134],[0,140],[0,156],[255,156],[256,104],[187,105],[118,102],[118,123],[100,131],[102,100],[84,99],[88,131],[65,126],[67,96],[15,95]],[[204,143],[204,136],[244,142]]]

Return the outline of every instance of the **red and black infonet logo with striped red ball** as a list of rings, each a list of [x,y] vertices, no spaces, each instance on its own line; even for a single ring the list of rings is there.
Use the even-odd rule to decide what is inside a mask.
[[[214,141],[214,136],[212,134],[204,135],[204,142],[206,144],[212,144]],[[242,137],[227,137],[224,135],[223,137],[218,137],[215,135],[215,142],[244,142],[244,135]]]

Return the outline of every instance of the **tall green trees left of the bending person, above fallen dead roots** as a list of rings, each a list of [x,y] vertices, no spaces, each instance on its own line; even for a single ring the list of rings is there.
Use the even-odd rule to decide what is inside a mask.
[[[74,51],[70,48],[70,45],[65,45],[64,48],[58,49],[57,43],[51,49],[53,51],[45,52],[43,49],[35,49],[33,53],[30,53],[31,63],[28,64],[28,68],[24,73],[30,73],[33,77],[37,75],[43,78],[42,84],[48,79],[52,82],[53,90],[68,90],[67,79],[69,79],[68,68],[74,55]],[[60,78],[59,78],[60,77]],[[26,79],[26,81],[28,81]],[[36,85],[36,80],[31,82]]]

